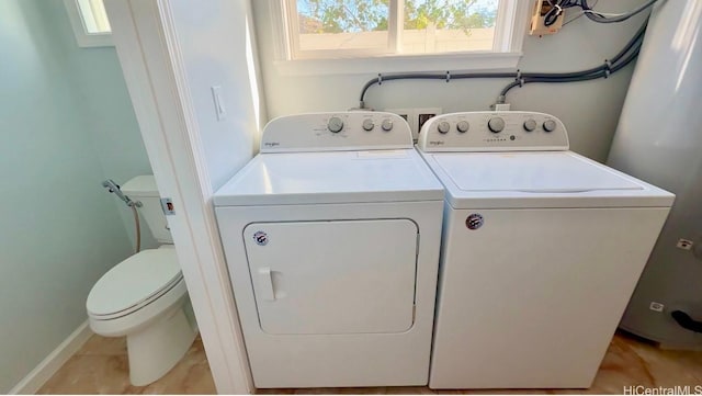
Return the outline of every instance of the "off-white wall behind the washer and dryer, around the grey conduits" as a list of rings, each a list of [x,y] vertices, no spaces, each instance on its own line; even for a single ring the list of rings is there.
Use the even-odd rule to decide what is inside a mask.
[[[644,0],[600,1],[602,12],[623,12]],[[378,72],[365,75],[283,76],[273,57],[272,21],[267,1],[253,1],[268,111],[271,117],[314,111],[339,111],[359,105],[361,88]],[[568,15],[568,18],[570,18]],[[597,24],[586,18],[566,25],[553,36],[526,36],[522,71],[571,71],[601,65],[616,54],[636,32],[643,15],[615,24]],[[530,84],[509,93],[512,110],[533,110],[559,117],[570,134],[575,151],[604,160],[621,112],[633,67],[607,80],[567,84]],[[455,70],[452,70],[455,71]],[[444,113],[489,110],[509,81],[454,80],[393,81],[373,87],[366,105],[388,108],[442,108]]]

